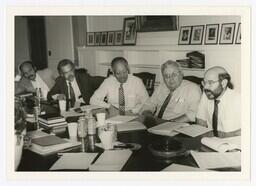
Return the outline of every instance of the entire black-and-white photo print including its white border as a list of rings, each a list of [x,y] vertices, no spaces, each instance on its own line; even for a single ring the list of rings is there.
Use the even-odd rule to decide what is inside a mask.
[[[210,182],[250,175],[247,16],[170,9],[172,29],[156,31],[155,22],[137,33],[140,15],[158,14],[25,10],[7,16],[12,177],[67,180],[68,173],[87,183],[213,175]],[[249,48],[217,44],[219,25],[219,44],[232,44],[236,33],[235,43],[243,37]]]

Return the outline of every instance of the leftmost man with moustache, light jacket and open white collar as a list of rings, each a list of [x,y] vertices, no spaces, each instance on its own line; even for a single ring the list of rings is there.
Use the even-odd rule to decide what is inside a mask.
[[[15,83],[15,95],[25,92],[35,92],[36,88],[41,88],[43,97],[46,98],[50,88],[54,85],[53,73],[49,69],[37,71],[31,61],[20,64],[20,81]]]

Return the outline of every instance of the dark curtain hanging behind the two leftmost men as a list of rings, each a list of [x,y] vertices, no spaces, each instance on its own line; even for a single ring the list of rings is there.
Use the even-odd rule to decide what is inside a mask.
[[[48,67],[45,19],[43,16],[28,16],[30,57],[37,69]]]

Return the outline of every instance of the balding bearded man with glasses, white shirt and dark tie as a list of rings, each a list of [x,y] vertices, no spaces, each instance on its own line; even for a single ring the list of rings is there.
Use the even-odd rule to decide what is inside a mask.
[[[240,94],[233,90],[231,77],[223,67],[205,72],[204,94],[200,100],[197,124],[213,129],[214,136],[241,134]]]

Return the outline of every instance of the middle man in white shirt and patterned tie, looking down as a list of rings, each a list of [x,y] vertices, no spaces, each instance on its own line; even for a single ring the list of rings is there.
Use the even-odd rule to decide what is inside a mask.
[[[142,104],[148,99],[148,93],[141,79],[129,73],[126,59],[116,57],[111,62],[114,76],[104,80],[94,92],[90,104],[116,111],[110,115],[138,113]],[[107,103],[104,102],[107,97]]]

